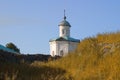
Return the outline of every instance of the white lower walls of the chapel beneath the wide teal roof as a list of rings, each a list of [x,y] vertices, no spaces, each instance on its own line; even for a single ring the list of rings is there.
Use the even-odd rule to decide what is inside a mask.
[[[68,41],[52,41],[50,42],[50,55],[61,55],[61,51],[63,51],[63,56],[67,55],[69,52],[74,51],[77,48],[78,43],[76,42],[68,42]],[[54,55],[53,55],[54,52]]]

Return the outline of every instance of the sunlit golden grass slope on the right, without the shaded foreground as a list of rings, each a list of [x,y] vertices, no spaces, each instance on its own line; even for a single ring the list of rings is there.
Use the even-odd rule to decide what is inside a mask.
[[[66,70],[73,80],[120,80],[120,33],[86,38],[75,52],[44,65]]]

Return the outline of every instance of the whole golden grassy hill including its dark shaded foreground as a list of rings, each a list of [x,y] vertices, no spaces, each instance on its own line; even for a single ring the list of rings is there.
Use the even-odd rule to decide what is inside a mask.
[[[9,80],[120,80],[119,74],[120,32],[85,38],[58,60],[0,63],[0,78]]]

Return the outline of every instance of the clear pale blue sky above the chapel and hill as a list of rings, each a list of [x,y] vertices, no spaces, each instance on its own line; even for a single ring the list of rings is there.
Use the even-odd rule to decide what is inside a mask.
[[[25,54],[49,54],[64,9],[73,38],[120,30],[120,0],[0,0],[0,44],[13,42]]]

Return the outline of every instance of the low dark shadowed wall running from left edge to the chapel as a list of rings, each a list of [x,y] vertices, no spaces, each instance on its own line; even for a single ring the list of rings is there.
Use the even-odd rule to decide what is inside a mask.
[[[0,62],[9,63],[32,63],[34,61],[48,61],[50,55],[43,54],[16,54],[0,50]]]

